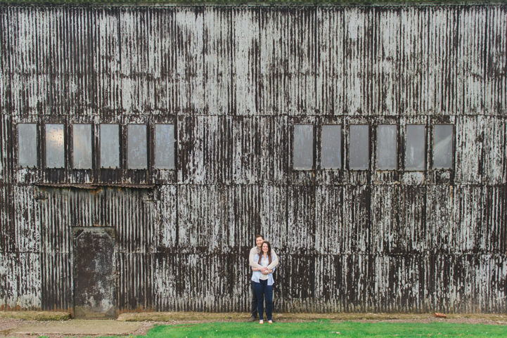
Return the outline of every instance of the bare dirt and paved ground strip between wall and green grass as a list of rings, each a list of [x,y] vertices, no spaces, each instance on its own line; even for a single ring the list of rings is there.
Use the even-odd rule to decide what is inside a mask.
[[[65,313],[63,313],[65,315]],[[0,311],[0,337],[100,337],[144,335],[153,325],[175,325],[210,322],[241,322],[248,313],[139,312],[122,313],[117,320],[79,320],[53,312]],[[32,319],[33,318],[33,319]],[[34,320],[53,319],[53,320]],[[54,318],[58,318],[54,320]],[[503,314],[449,314],[435,318],[433,313],[274,313],[277,322],[302,322],[328,319],[361,322],[468,323],[507,325]]]

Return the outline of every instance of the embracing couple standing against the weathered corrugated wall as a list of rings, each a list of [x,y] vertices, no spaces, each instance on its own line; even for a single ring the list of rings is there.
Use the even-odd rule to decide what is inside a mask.
[[[273,271],[278,265],[278,256],[271,250],[262,235],[255,235],[255,247],[250,249],[248,261],[252,267],[252,316],[253,322],[259,313],[259,324],[264,323],[264,299],[268,323],[273,323]]]

